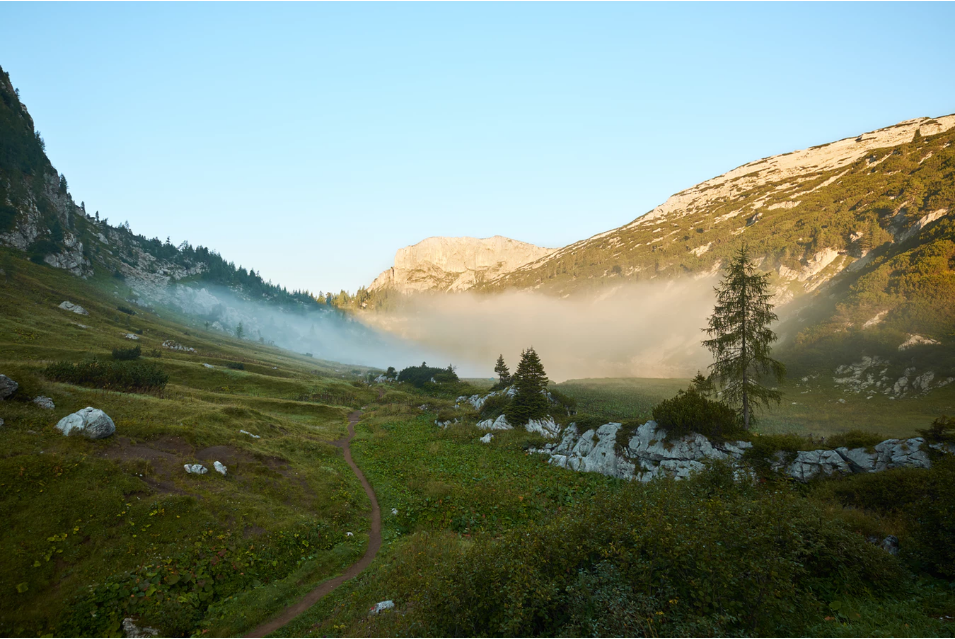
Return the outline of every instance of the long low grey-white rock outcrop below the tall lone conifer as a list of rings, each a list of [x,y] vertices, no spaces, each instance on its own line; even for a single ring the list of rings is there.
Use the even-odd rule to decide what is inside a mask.
[[[570,424],[564,429],[559,444],[547,444],[535,452],[550,455],[550,463],[561,468],[646,482],[665,476],[684,479],[702,470],[707,461],[728,460],[742,467],[743,453],[752,447],[750,442],[744,441],[711,442],[696,433],[668,442],[666,431],[653,421],[637,428],[629,438],[621,436],[621,428],[620,424],[611,422],[581,433],[576,424]],[[835,474],[928,468],[931,462],[924,444],[924,439],[914,437],[886,440],[875,446],[872,453],[864,448],[839,448],[798,451],[792,459],[778,454],[771,467],[803,482]],[[953,452],[953,447],[934,445],[931,448],[942,453]]]

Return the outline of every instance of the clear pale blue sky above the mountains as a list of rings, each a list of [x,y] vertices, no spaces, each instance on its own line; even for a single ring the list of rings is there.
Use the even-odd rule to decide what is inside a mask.
[[[90,212],[337,291],[955,112],[953,33],[952,3],[0,3],[0,65]]]

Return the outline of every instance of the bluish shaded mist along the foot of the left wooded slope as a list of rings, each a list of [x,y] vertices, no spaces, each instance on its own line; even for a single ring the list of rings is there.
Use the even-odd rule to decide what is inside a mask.
[[[170,307],[194,317],[209,330],[233,336],[241,326],[243,339],[310,353],[318,359],[382,369],[417,365],[423,360],[443,366],[450,362],[447,355],[366,326],[333,307],[286,308],[243,299],[216,286],[135,290],[140,294],[140,304]]]

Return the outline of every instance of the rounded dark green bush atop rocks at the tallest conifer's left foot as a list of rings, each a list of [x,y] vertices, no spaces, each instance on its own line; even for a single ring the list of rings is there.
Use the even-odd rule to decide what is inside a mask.
[[[736,411],[723,402],[707,399],[694,386],[654,406],[653,420],[671,440],[699,433],[720,441],[743,433]]]

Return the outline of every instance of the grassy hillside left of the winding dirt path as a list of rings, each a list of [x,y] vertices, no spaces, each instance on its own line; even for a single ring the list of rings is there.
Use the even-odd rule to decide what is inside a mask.
[[[86,620],[86,628],[75,620],[72,626],[56,624],[66,623],[71,602],[88,585],[170,558],[195,563],[216,543],[231,545],[230,553],[248,551],[250,565],[261,560],[250,572],[259,587],[230,588],[231,577],[223,576],[222,592],[203,595],[200,608],[214,604],[207,627],[214,634],[234,633],[360,556],[369,505],[328,442],[345,434],[345,416],[373,392],[341,379],[330,363],[193,330],[166,314],[119,312],[124,302],[116,296],[122,290],[115,280],[84,282],[10,255],[3,263],[0,372],[21,388],[0,403],[0,514],[6,529],[0,538],[0,633],[115,631],[115,619],[112,625]],[[89,315],[57,308],[63,300]],[[51,383],[40,373],[54,360],[108,359],[111,349],[132,345],[124,334],[133,330],[142,331],[144,353],[162,353],[144,358],[170,376],[160,395]],[[167,339],[198,353],[162,349]],[[226,361],[242,361],[245,370],[222,368]],[[27,401],[38,395],[53,398],[56,409]],[[314,401],[318,397],[348,405]],[[89,442],[53,428],[85,406],[106,411],[116,435]],[[228,476],[212,472],[214,460],[229,467]],[[184,472],[184,463],[197,461],[210,467],[209,474]],[[346,538],[346,531],[355,537]],[[309,548],[304,541],[296,545],[307,535]],[[168,575],[162,579],[160,592],[169,581]],[[162,596],[150,599],[154,614],[165,614]],[[137,604],[148,621],[153,608]]]

